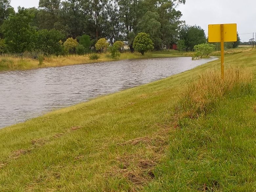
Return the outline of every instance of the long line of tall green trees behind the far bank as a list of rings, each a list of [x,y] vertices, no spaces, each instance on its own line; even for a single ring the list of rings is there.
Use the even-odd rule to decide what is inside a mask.
[[[0,53],[89,53],[102,38],[112,47],[127,41],[133,52],[141,32],[152,40],[153,46],[145,41],[150,49],[178,43],[179,50],[193,51],[207,41],[206,35],[200,26],[181,21],[180,4],[185,0],[39,0],[38,8],[15,12],[10,0],[0,0]],[[142,47],[149,50],[147,46]]]

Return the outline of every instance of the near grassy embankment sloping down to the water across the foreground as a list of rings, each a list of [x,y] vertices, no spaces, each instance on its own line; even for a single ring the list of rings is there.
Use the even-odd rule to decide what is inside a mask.
[[[0,130],[0,191],[255,191],[256,51],[225,61]]]

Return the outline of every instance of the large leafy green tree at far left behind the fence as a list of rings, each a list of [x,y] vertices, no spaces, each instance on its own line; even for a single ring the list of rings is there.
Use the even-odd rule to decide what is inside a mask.
[[[11,52],[23,53],[34,48],[35,31],[30,26],[33,17],[27,9],[19,7],[15,15],[4,21],[2,29]]]

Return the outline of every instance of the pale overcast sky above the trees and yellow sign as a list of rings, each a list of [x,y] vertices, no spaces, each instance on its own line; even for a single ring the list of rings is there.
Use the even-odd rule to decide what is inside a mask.
[[[38,7],[39,0],[11,0],[12,7]],[[189,25],[200,25],[207,35],[208,24],[237,23],[242,41],[252,38],[256,32],[255,0],[186,0],[178,7]],[[254,24],[255,23],[255,24]],[[244,34],[251,33],[251,34]]]

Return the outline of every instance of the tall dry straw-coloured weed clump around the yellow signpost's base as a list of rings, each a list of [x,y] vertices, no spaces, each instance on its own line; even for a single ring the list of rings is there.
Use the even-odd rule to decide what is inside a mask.
[[[224,97],[239,97],[250,94],[253,89],[253,75],[241,69],[228,69],[224,79],[220,73],[208,72],[198,80],[189,83],[178,103],[181,118],[197,118],[216,108]]]

